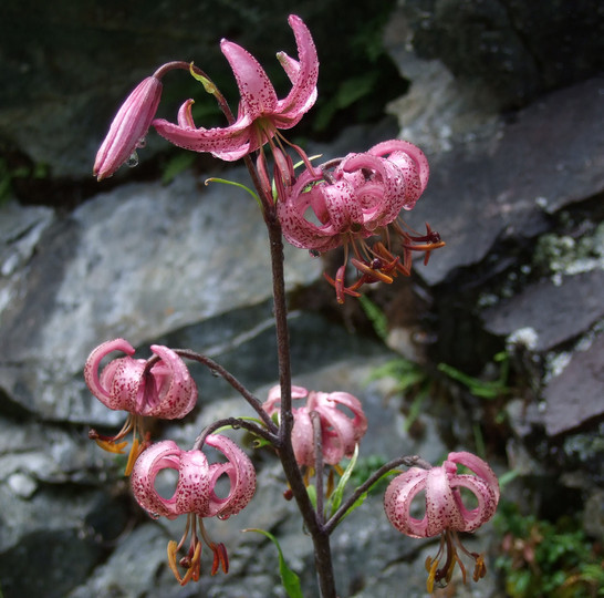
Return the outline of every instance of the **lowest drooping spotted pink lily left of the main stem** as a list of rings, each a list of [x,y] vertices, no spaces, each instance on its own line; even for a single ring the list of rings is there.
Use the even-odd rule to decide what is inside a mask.
[[[215,575],[219,567],[228,573],[227,549],[223,544],[211,540],[202,519],[205,517],[227,519],[236,515],[246,507],[256,492],[253,465],[233,441],[220,434],[210,434],[205,442],[220,451],[227,461],[210,464],[201,451],[181,451],[173,441],[163,441],[152,445],[140,455],[131,476],[134,497],[150,517],[175,519],[179,515],[187,515],[180,542],[168,543],[168,563],[183,586],[190,579],[194,581],[199,579],[201,540],[214,553],[211,575]],[[155,487],[156,477],[163,470],[178,472],[176,488],[169,498],[159,494]],[[230,482],[230,489],[226,496],[220,497],[216,493],[216,484],[223,475]],[[187,540],[188,546],[185,546]],[[183,548],[185,556],[177,564],[177,554]],[[180,576],[178,565],[185,569],[184,576]]]

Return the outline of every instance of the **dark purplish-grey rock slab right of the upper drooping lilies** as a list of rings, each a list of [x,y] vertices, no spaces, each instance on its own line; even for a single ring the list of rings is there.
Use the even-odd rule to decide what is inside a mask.
[[[496,241],[544,233],[546,214],[601,193],[603,84],[594,79],[520,111],[488,153],[460,145],[431,161],[428,188],[408,218],[415,228],[428,221],[447,243],[417,269],[428,285],[480,262]]]

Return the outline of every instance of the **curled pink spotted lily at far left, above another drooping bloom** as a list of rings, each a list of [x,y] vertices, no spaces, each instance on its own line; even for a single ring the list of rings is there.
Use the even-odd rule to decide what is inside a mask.
[[[133,359],[132,344],[124,339],[114,339],[94,349],[84,367],[84,379],[94,396],[110,409],[128,412],[126,423],[115,436],[90,432],[91,439],[112,453],[123,453],[127,444],[123,439],[129,432],[134,433],[126,475],[149,444],[143,419],[180,419],[197,402],[197,386],[185,362],[167,347],[153,344],[150,349],[156,355],[152,360]],[[98,374],[101,361],[113,351],[126,353],[126,357],[110,361]]]

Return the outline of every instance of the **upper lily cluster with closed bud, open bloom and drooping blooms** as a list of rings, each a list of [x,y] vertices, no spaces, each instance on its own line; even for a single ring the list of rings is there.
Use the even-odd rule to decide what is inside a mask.
[[[427,226],[426,235],[412,235],[399,219],[403,209],[412,209],[428,183],[428,161],[412,143],[392,140],[365,153],[350,154],[341,159],[313,166],[304,151],[288,142],[280,130],[291,128],[316,100],[319,60],[311,33],[303,21],[290,17],[298,44],[299,61],[284,52],[278,59],[292,89],[279,100],[267,73],[258,61],[237,43],[222,40],[220,47],[229,61],[240,92],[237,118],[214,83],[199,69],[184,62],[169,62],[145,79],[132,92],[115,116],[94,165],[101,181],[113,175],[142,146],[148,128],[155,130],[173,144],[195,152],[209,152],[231,162],[258,151],[257,177],[265,205],[277,203],[277,213],[285,239],[295,247],[321,255],[343,246],[345,258],[334,278],[339,302],[346,295],[358,297],[365,283],[392,282],[397,274],[408,276],[412,251],[430,251],[445,245],[438,233]],[[177,123],[155,118],[162,96],[162,79],[175,69],[190,70],[215,95],[229,126],[196,127],[191,114],[192,100],[178,111]],[[274,187],[269,177],[264,146],[274,161]],[[304,171],[296,176],[285,145],[295,152]],[[374,240],[369,245],[367,239]],[[375,240],[376,239],[376,240]],[[395,241],[402,255],[394,255]],[[346,287],[348,252],[351,266],[358,276]]]

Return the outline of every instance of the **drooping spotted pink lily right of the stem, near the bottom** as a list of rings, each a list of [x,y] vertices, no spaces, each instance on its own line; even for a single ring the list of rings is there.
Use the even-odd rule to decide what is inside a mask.
[[[458,465],[466,466],[475,475],[458,474]],[[476,497],[477,505],[473,508],[464,504],[461,488]],[[410,508],[421,492],[425,493],[425,515],[417,519],[412,516]],[[434,590],[435,582],[442,586],[450,581],[456,564],[466,582],[466,567],[458,549],[475,561],[473,580],[485,577],[487,566],[483,555],[467,550],[457,533],[475,532],[490,520],[499,494],[499,482],[493,471],[480,457],[467,452],[449,453],[447,461],[439,467],[412,467],[390,482],[384,496],[384,507],[394,527],[413,538],[441,535],[436,557],[426,560],[428,592]],[[442,555],[446,555],[445,563],[439,567]]]

